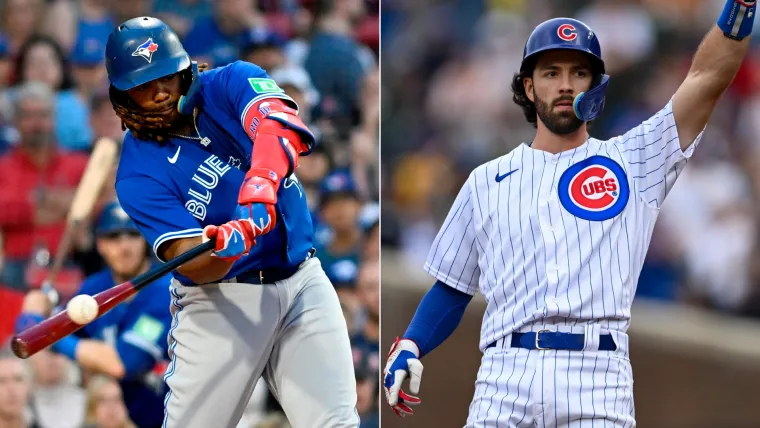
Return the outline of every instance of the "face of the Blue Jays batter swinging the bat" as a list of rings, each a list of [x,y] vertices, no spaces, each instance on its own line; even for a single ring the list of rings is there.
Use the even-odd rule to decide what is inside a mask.
[[[151,80],[127,93],[142,110],[162,116],[164,122],[171,123],[179,117],[177,102],[182,95],[182,78],[179,73]]]

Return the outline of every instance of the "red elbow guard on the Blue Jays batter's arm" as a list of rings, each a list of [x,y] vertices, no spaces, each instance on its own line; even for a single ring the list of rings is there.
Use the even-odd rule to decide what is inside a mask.
[[[244,115],[243,126],[253,141],[251,170],[271,170],[278,179],[292,174],[300,156],[309,154],[315,144],[314,134],[298,112],[280,99],[252,105]]]

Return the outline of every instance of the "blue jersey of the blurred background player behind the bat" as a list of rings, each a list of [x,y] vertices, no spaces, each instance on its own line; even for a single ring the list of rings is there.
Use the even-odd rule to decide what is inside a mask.
[[[160,426],[164,418],[166,384],[154,368],[168,361],[167,335],[172,316],[171,294],[166,275],[84,326],[77,336],[113,345],[124,363],[121,381],[129,417],[139,427]],[[77,294],[94,295],[115,285],[110,269],[88,277]]]

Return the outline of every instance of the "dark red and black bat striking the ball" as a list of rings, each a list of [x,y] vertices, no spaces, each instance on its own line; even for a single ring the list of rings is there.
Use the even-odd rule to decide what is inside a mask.
[[[107,313],[156,279],[179,268],[203,253],[213,250],[215,242],[213,239],[206,241],[168,262],[136,276],[131,281],[123,282],[92,296],[98,303],[98,317]],[[84,325],[72,321],[64,310],[14,336],[11,340],[11,347],[17,357],[29,358],[82,327]]]

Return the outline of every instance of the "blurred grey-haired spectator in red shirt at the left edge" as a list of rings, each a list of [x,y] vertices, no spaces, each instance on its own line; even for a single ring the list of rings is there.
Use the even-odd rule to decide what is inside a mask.
[[[0,157],[0,229],[4,266],[0,283],[25,291],[24,270],[38,246],[54,251],[87,155],[58,149],[54,94],[47,85],[20,86],[13,108],[19,141]]]

